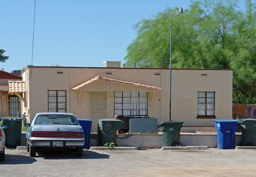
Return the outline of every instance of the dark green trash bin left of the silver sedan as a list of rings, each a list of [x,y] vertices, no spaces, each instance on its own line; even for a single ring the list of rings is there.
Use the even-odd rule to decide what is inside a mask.
[[[7,126],[7,129],[4,129],[4,133],[6,135],[6,146],[20,146],[23,119],[16,117],[5,117],[2,118],[2,120],[3,125]]]

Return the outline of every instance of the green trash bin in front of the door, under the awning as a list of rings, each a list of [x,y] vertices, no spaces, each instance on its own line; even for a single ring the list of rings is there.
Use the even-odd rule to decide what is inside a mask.
[[[100,119],[99,127],[101,134],[101,146],[104,146],[107,142],[117,141],[117,130],[120,130],[120,126],[124,121],[120,119]]]

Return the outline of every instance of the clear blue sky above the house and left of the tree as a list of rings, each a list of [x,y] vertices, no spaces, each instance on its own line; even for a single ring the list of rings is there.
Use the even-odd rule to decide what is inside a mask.
[[[126,48],[136,37],[134,24],[166,7],[183,7],[186,13],[189,4],[190,0],[36,0],[32,62],[34,0],[0,0],[0,49],[9,56],[0,69],[125,63]],[[243,0],[238,5],[243,6]]]

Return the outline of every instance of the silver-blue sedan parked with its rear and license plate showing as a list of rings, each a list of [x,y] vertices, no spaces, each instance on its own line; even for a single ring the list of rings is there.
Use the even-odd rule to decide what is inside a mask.
[[[41,112],[35,114],[26,133],[27,151],[35,157],[40,149],[68,149],[77,157],[83,153],[83,129],[74,114]]]

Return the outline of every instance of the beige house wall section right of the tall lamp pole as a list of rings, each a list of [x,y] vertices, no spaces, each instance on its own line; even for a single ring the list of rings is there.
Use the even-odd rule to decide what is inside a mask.
[[[207,76],[201,76],[201,74]],[[197,92],[215,92],[215,116],[232,118],[232,70],[173,70],[171,117],[184,126],[213,126],[197,119]]]

